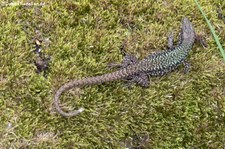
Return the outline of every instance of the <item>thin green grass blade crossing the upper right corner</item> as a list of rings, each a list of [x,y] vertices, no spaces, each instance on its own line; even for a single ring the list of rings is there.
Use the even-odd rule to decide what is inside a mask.
[[[211,25],[210,21],[207,19],[205,13],[203,12],[203,10],[202,10],[202,8],[201,8],[201,6],[199,5],[199,3],[198,3],[197,0],[195,0],[195,3],[196,3],[196,5],[198,6],[198,9],[201,11],[202,15],[204,16],[204,18],[205,18],[205,20],[206,20],[206,22],[207,22],[207,24],[208,24],[208,26],[209,26],[209,29],[210,29],[210,31],[211,31],[211,33],[212,33],[212,35],[213,35],[213,37],[214,37],[214,39],[215,39],[215,41],[216,41],[216,44],[217,44],[218,48],[220,49],[220,52],[221,52],[221,54],[222,54],[222,56],[223,56],[223,59],[224,59],[224,61],[225,61],[225,52],[224,52],[224,49],[223,49],[222,45],[220,44],[219,38],[218,38],[218,36],[216,35],[215,30],[213,29],[213,26]]]

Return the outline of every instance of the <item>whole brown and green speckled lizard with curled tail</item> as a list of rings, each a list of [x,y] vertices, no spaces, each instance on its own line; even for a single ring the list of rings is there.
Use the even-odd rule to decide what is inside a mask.
[[[55,93],[54,104],[56,110],[66,117],[76,116],[84,109],[80,108],[76,111],[65,112],[60,107],[59,98],[61,94],[74,87],[84,87],[87,85],[101,84],[103,82],[111,82],[115,80],[128,80],[132,83],[139,84],[143,87],[149,86],[149,77],[163,76],[179,65],[185,66],[185,72],[189,70],[189,64],[186,58],[192,49],[195,41],[195,31],[192,23],[188,18],[183,18],[180,40],[177,46],[173,46],[173,37],[169,36],[168,50],[151,54],[141,61],[130,54],[124,54],[125,58],[122,64],[114,65],[113,67],[119,68],[117,71],[107,73],[99,76],[82,78],[72,80],[62,85]]]

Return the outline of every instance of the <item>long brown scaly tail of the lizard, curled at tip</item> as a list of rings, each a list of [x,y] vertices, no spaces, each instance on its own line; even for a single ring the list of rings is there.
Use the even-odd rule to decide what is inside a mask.
[[[70,82],[62,85],[55,93],[54,104],[55,104],[56,110],[62,116],[66,116],[66,117],[76,116],[79,113],[81,113],[82,111],[84,111],[84,108],[80,108],[78,110],[70,111],[70,112],[63,111],[59,106],[60,105],[59,98],[63,92],[70,90],[74,87],[83,87],[86,85],[101,84],[103,82],[119,80],[121,78],[125,78],[127,76],[130,76],[130,75],[136,73],[136,71],[137,71],[137,67],[135,67],[135,65],[132,65],[132,66],[128,66],[126,68],[120,69],[120,70],[112,72],[112,73],[107,73],[107,74],[100,75],[100,76],[70,81]]]

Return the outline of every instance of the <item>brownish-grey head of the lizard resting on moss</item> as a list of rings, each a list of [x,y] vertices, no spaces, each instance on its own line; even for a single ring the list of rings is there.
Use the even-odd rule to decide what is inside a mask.
[[[194,28],[190,20],[186,17],[184,17],[182,20],[181,33],[182,33],[182,38],[184,40],[194,39],[194,36],[195,36]]]

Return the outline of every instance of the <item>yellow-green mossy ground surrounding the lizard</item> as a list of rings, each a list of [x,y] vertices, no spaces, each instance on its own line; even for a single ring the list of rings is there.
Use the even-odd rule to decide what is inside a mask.
[[[194,1],[36,2],[45,5],[0,7],[0,148],[225,147],[225,62]],[[200,4],[225,47],[217,18],[224,1]],[[81,98],[72,90],[65,107],[86,110],[72,118],[56,113],[53,96],[63,83],[110,72],[123,42],[139,58],[165,48],[183,16],[209,46],[193,47],[188,74],[180,67],[151,78],[147,89],[117,81],[82,88]],[[47,77],[35,72],[35,39],[51,56]]]

